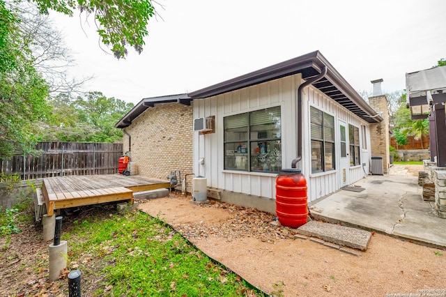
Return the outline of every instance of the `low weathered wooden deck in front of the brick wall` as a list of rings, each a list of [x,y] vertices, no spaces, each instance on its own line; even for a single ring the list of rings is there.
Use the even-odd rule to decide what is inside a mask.
[[[54,210],[112,201],[131,201],[133,192],[169,188],[169,181],[144,176],[104,174],[44,178],[43,198],[49,216]]]

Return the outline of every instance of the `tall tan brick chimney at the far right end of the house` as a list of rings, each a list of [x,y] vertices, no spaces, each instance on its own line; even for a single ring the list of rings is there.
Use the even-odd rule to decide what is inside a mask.
[[[383,112],[381,117],[384,121],[370,125],[371,156],[383,157],[383,169],[384,173],[387,173],[390,166],[389,110],[387,107],[387,98],[385,95],[369,97],[369,105],[376,112]]]

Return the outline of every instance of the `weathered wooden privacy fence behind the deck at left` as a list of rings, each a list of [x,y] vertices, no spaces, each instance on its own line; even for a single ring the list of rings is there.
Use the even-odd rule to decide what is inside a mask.
[[[17,153],[0,160],[1,172],[22,179],[66,175],[114,174],[123,144],[40,142],[37,155]]]

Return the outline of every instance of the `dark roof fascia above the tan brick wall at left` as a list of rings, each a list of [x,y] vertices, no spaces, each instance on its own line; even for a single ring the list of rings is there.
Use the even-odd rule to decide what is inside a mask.
[[[123,116],[121,120],[114,125],[115,128],[125,128],[132,124],[132,121],[136,119],[139,115],[148,109],[148,107],[154,107],[155,104],[158,103],[169,103],[169,102],[178,102],[183,105],[190,105],[192,99],[187,96],[187,94],[177,94],[177,95],[168,95],[168,96],[159,96],[159,97],[151,97],[144,98],[134,105],[134,107]]]

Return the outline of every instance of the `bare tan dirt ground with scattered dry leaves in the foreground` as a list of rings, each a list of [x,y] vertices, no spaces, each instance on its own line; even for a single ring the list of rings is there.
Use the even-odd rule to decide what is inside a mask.
[[[390,174],[417,176],[420,170],[419,165],[397,167]],[[216,201],[196,205],[190,199],[171,195],[138,207],[165,220],[208,256],[269,294],[446,296],[443,250],[373,234],[368,250],[358,251],[357,257],[308,239],[293,239],[294,229],[270,224],[274,215]]]

